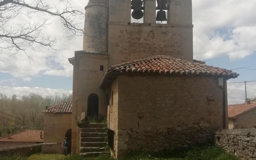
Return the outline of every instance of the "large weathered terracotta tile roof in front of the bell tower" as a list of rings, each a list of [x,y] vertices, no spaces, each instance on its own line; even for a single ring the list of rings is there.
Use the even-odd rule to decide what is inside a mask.
[[[154,56],[109,67],[100,87],[108,86],[117,75],[164,75],[164,76],[217,76],[227,79],[239,76],[231,70],[207,66],[203,61],[180,60],[168,56]]]

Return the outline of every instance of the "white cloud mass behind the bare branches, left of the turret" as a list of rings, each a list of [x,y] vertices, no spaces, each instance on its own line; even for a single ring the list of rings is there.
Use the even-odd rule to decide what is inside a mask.
[[[49,4],[61,7],[63,2],[47,0]],[[81,6],[84,10],[84,6],[87,1],[72,0],[73,6]],[[41,22],[44,14],[39,12],[31,15],[31,23]],[[22,24],[28,21],[28,17],[20,15],[18,18],[13,20],[12,27],[15,24]],[[84,16],[77,18],[78,22],[84,22]],[[83,37],[76,37],[69,42],[66,42],[64,37],[67,36],[66,32],[62,32],[63,26],[59,18],[51,18],[52,24],[43,30],[44,35],[50,35],[56,37],[57,43],[53,47],[55,50],[47,50],[42,46],[37,46],[35,50],[28,49],[26,52],[32,56],[30,62],[27,56],[23,52],[18,52],[12,55],[9,52],[2,52],[0,54],[0,72],[10,73],[15,78],[21,78],[24,81],[30,81],[34,76],[38,76],[40,73],[45,75],[54,76],[72,76],[73,66],[68,62],[68,58],[74,56],[74,51],[82,50]],[[83,26],[83,25],[81,25]],[[16,26],[17,27],[17,26]],[[4,44],[1,44],[4,45]]]

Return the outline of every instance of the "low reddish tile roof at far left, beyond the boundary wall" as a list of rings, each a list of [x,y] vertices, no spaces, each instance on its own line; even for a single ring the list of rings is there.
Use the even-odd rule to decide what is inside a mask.
[[[42,139],[40,138],[40,132],[43,133]],[[24,130],[10,136],[11,139],[8,139],[8,136],[0,138],[0,142],[44,142],[44,130]]]

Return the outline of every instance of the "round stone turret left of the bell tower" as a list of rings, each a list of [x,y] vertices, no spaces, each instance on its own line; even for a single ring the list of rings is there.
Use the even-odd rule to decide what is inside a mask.
[[[89,0],[85,6],[84,51],[108,52],[108,0]]]

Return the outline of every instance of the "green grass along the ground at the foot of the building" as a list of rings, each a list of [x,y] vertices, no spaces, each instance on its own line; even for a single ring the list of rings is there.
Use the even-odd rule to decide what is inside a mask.
[[[60,154],[34,154],[28,158],[12,158],[0,160],[115,160],[110,154],[100,155],[99,157],[81,157],[79,155],[64,156]],[[234,155],[224,152],[217,146],[195,147],[188,150],[133,152],[118,160],[239,160]]]

